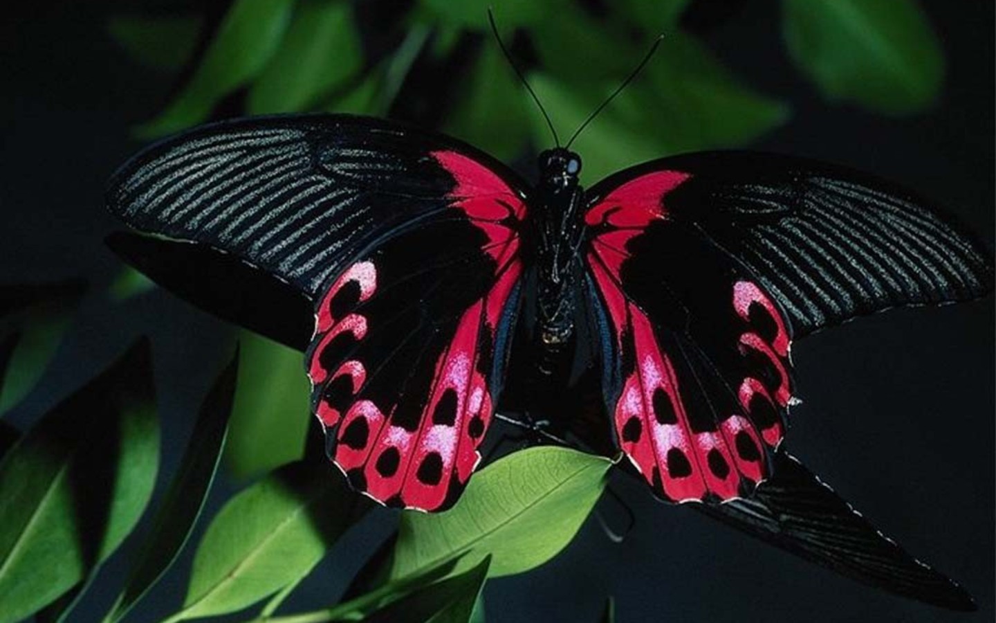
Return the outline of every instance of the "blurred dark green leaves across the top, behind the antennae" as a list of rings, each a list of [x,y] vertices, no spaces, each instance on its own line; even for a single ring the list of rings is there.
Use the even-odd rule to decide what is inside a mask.
[[[790,117],[785,103],[749,87],[683,31],[690,0],[420,0],[367,25],[361,19],[376,3],[358,14],[361,5],[345,0],[238,0],[187,66],[173,101],[138,133],[161,136],[204,122],[234,95],[226,115],[386,115],[515,160],[552,138],[491,38],[491,5],[562,140],[664,35],[644,74],[579,138],[589,183],[645,159],[745,146]],[[789,57],[828,101],[913,114],[936,99],[943,58],[914,0],[782,6]],[[190,15],[158,19],[117,18],[109,30],[136,62],[167,67],[156,52],[162,38],[174,31],[172,50],[181,56],[199,22]],[[138,52],[140,32],[148,43]]]

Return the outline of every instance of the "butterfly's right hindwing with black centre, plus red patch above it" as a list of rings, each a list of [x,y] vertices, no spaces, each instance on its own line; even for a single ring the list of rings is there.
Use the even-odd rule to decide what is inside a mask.
[[[781,442],[789,334],[739,266],[668,218],[688,178],[660,170],[597,196],[586,260],[616,338],[606,400],[622,451],[665,499],[728,500]]]

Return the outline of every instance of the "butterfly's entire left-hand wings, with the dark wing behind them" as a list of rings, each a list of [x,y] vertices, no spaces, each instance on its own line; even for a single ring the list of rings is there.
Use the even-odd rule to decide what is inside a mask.
[[[437,510],[477,467],[501,390],[525,187],[464,144],[390,122],[242,120],[126,163],[112,211],[171,240],[110,242],[196,303],[299,347],[300,292],[330,458],[377,501]],[[163,268],[169,255],[186,259]]]

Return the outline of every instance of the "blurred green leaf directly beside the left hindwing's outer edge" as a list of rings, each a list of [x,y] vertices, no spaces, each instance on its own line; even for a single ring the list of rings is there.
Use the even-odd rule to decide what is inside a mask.
[[[304,456],[312,421],[311,388],[301,353],[249,331],[242,353],[225,465],[249,478]]]

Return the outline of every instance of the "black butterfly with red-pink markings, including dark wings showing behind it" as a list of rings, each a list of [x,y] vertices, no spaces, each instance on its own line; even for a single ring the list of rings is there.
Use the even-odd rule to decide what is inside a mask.
[[[380,503],[447,508],[502,414],[535,422],[594,393],[603,438],[658,497],[890,590],[970,603],[781,444],[796,340],[984,296],[988,252],[908,192],[801,158],[672,156],[591,187],[567,148],[538,163],[533,184],[365,117],[217,123],[115,174],[111,210],[156,239],[111,243],[153,276],[156,254],[202,258],[166,280],[304,347],[329,457]],[[557,435],[571,419],[529,426]]]

